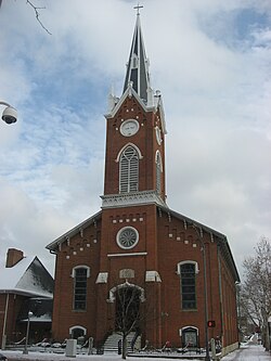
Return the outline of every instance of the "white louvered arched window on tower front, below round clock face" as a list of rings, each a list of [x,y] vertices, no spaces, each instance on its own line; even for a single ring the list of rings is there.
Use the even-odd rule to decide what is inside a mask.
[[[129,145],[119,159],[119,192],[130,193],[139,190],[139,153]]]

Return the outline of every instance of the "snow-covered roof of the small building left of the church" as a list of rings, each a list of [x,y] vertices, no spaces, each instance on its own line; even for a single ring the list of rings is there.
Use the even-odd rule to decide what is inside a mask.
[[[38,257],[24,257],[15,266],[0,265],[0,293],[53,297],[53,279]]]

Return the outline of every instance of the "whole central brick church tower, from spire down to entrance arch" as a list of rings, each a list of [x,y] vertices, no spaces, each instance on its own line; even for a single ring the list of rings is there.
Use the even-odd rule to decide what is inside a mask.
[[[127,281],[159,292],[157,255],[157,206],[166,205],[165,136],[162,95],[151,87],[149,60],[137,15],[122,95],[111,93],[106,118],[106,153],[102,228],[100,298]],[[105,287],[106,284],[106,287]],[[155,297],[158,301],[159,297]],[[160,306],[157,305],[159,309]],[[115,305],[100,308],[114,320]],[[114,330],[114,322],[105,325]],[[155,325],[153,332],[158,327]],[[107,328],[101,330],[104,333]],[[98,337],[102,337],[98,335]],[[155,339],[154,339],[155,338]],[[156,336],[152,337],[155,341]]]

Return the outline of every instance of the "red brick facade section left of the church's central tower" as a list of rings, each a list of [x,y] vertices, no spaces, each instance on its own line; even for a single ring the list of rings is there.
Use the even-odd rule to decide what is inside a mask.
[[[81,235],[79,232],[62,244],[56,256],[54,306],[52,336],[55,340],[63,341],[69,337],[69,327],[81,325],[88,328],[89,336],[95,333],[96,314],[96,275],[99,272],[99,254],[101,247],[101,223],[91,224]],[[75,311],[73,309],[74,279],[73,268],[76,266],[89,266],[87,310]]]

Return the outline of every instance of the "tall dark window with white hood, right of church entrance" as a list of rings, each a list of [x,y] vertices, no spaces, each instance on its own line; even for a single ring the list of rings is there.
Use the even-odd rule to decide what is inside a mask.
[[[181,276],[181,308],[183,310],[196,309],[196,273],[198,266],[195,261],[182,261],[178,265]]]

